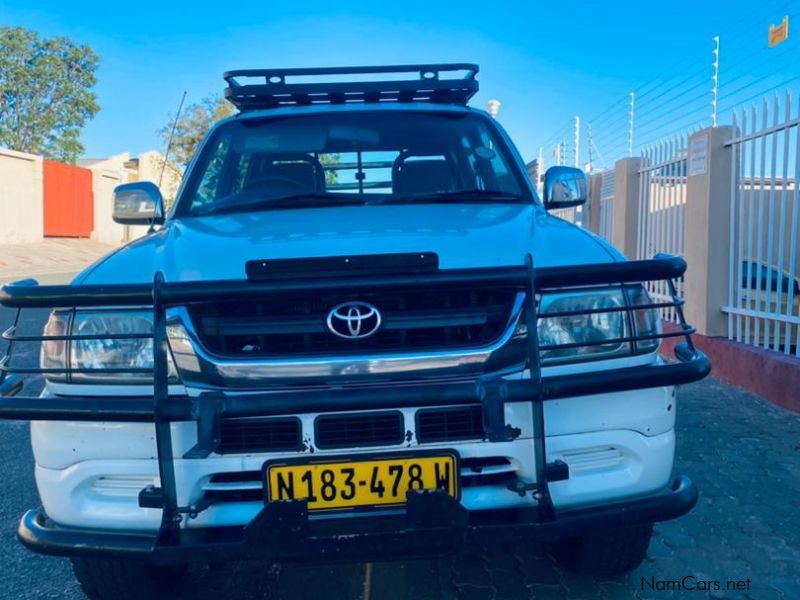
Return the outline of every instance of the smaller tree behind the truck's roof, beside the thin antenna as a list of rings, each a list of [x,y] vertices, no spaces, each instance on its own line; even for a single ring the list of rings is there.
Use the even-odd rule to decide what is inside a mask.
[[[183,109],[175,125],[175,135],[172,137],[172,147],[169,154],[171,160],[180,165],[187,165],[194,156],[194,151],[217,121],[232,116],[236,112],[233,105],[218,96],[207,96],[200,102]],[[172,131],[173,120],[159,130],[159,135],[166,145]]]

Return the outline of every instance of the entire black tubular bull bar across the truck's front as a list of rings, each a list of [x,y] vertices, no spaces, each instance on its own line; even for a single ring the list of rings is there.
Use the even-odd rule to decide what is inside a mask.
[[[691,481],[679,478],[671,488],[656,496],[602,508],[556,511],[548,487],[549,481],[568,476],[563,463],[546,463],[544,402],[588,394],[621,392],[642,388],[678,385],[697,381],[710,371],[706,356],[692,344],[694,329],[687,325],[674,279],[683,276],[686,263],[670,255],[652,260],[599,265],[534,268],[530,257],[519,267],[435,270],[414,273],[348,273],[324,277],[278,275],[260,280],[166,282],[157,273],[153,284],[39,286],[33,281],[4,286],[0,304],[18,309],[17,321],[3,334],[8,340],[5,357],[0,361],[0,418],[19,420],[119,421],[155,424],[160,487],[148,487],[140,494],[140,505],[162,509],[157,533],[112,533],[63,528],[47,521],[41,511],[30,511],[20,523],[20,539],[42,553],[74,555],[86,553],[121,553],[146,555],[153,560],[175,561],[202,558],[219,560],[220,556],[274,559],[298,559],[322,556],[358,557],[371,545],[395,548],[392,556],[428,555],[451,549],[466,539],[491,533],[493,539],[511,539],[531,535],[561,537],[597,524],[646,522],[674,518],[687,512],[697,499]],[[542,376],[537,332],[537,298],[543,293],[592,286],[652,285],[663,282],[669,300],[635,306],[592,309],[591,312],[615,312],[647,309],[672,309],[679,327],[676,331],[603,340],[635,344],[637,341],[683,337],[675,346],[677,361],[646,366],[618,368],[591,373]],[[527,320],[527,379],[507,380],[483,376],[466,382],[408,383],[386,387],[324,390],[265,390],[228,394],[225,390],[203,391],[196,396],[170,396],[168,393],[168,340],[166,310],[173,306],[236,298],[257,299],[269,294],[297,291],[382,290],[419,286],[503,287],[525,293]],[[153,308],[154,362],[152,397],[56,397],[18,395],[22,389],[19,375],[28,373],[103,373],[104,369],[30,369],[12,366],[13,346],[20,341],[86,339],[85,336],[16,335],[19,311],[30,308],[68,307],[141,307]],[[569,314],[586,314],[581,311]],[[567,313],[558,313],[564,316]],[[120,339],[124,334],[98,334],[94,339]],[[594,342],[596,344],[596,342]],[[592,345],[586,342],[579,345]],[[219,441],[223,418],[277,416],[305,412],[409,408],[475,404],[482,407],[486,439],[489,442],[513,439],[514,433],[504,422],[504,404],[530,402],[533,407],[533,447],[536,482],[522,488],[537,501],[534,509],[482,511],[468,513],[440,492],[409,493],[405,515],[400,518],[361,517],[319,522],[309,519],[304,501],[266,503],[256,519],[245,528],[191,529],[181,527],[186,515],[198,507],[178,505],[173,463],[170,424],[195,421],[197,444],[184,458],[202,459],[214,452]],[[202,507],[199,508],[202,510]],[[487,511],[488,512],[488,511]],[[434,516],[433,520],[431,515]],[[345,530],[340,528],[345,527]],[[337,529],[339,528],[339,529]],[[329,531],[328,531],[329,530]],[[268,541],[275,543],[266,543]],[[360,541],[359,541],[360,540]],[[393,544],[386,546],[385,544]],[[220,554],[222,553],[222,554]],[[364,558],[369,558],[365,556]]]

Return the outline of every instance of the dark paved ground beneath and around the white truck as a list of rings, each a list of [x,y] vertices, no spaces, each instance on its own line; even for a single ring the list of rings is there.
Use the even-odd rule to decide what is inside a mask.
[[[0,311],[0,325],[10,318]],[[36,329],[43,318],[38,313],[24,323]],[[35,349],[27,353],[35,359]],[[700,502],[686,517],[658,525],[648,560],[621,579],[562,572],[542,547],[530,545],[371,566],[197,569],[181,598],[800,598],[800,416],[707,380],[680,391],[678,436],[677,470],[695,479]],[[0,423],[0,481],[0,598],[82,598],[66,560],[29,554],[14,539],[20,513],[37,504],[24,424]],[[642,589],[643,578],[687,575],[720,581],[723,590]],[[724,589],[728,580],[748,579],[749,592]]]

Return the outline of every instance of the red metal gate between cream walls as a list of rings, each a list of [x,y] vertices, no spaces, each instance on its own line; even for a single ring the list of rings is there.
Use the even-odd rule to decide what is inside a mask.
[[[93,229],[92,172],[44,161],[44,235],[89,237]]]

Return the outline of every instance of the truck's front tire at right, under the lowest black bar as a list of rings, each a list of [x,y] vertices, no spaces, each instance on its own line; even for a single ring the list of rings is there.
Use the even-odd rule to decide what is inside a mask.
[[[556,562],[590,575],[622,575],[647,556],[653,524],[598,529],[581,537],[560,540],[551,546]]]

